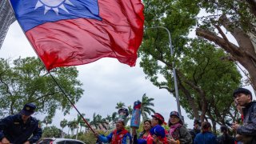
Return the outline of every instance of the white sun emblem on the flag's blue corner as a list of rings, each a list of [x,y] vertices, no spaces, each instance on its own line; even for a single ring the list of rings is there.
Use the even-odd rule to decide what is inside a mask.
[[[38,7],[45,6],[44,14],[46,14],[48,10],[54,10],[54,12],[58,14],[58,9],[65,10],[67,13],[69,13],[69,11],[66,10],[66,7],[63,5],[64,3],[74,6],[70,0],[38,0],[34,10],[38,9]]]

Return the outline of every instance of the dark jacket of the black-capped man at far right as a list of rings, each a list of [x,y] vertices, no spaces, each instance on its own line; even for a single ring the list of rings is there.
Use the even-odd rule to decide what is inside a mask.
[[[256,143],[256,102],[250,102],[242,109],[243,125],[238,127],[237,133],[252,138],[249,143]]]

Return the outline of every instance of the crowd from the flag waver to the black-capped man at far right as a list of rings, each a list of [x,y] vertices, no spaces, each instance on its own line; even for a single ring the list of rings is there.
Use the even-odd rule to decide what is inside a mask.
[[[256,144],[256,102],[253,102],[250,90],[245,88],[234,90],[233,97],[241,113],[242,123],[234,122],[230,124],[230,129],[221,126],[222,135],[218,137],[212,132],[210,122],[195,119],[194,128],[186,129],[177,111],[170,112],[169,131],[162,126],[166,123],[162,114],[155,113],[151,120],[143,122],[143,130],[139,134],[135,129],[132,129],[130,134],[125,129],[123,120],[119,119],[118,123],[122,123],[121,129],[117,123],[117,129],[108,136],[95,136],[99,142],[112,144]],[[236,134],[235,137],[229,134],[231,130]]]

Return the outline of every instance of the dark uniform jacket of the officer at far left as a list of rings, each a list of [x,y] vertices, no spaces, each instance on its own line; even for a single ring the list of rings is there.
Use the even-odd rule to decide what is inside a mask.
[[[33,134],[32,137],[30,137]],[[10,143],[18,144],[29,141],[37,142],[42,136],[42,129],[38,120],[30,117],[26,123],[22,121],[21,114],[10,115],[0,120],[0,140],[7,138]]]

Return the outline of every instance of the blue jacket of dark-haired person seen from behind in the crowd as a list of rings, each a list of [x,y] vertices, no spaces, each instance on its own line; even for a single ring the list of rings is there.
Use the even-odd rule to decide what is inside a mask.
[[[211,132],[199,133],[194,138],[194,144],[217,144],[217,138]]]

